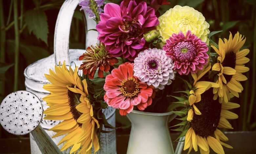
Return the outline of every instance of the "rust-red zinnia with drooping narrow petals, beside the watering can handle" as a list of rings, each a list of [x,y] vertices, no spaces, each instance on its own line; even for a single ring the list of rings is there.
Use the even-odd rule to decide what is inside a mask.
[[[103,71],[109,71],[110,66],[118,63],[117,58],[112,57],[105,50],[105,46],[102,43],[88,47],[86,52],[79,57],[79,60],[83,60],[83,64],[81,64],[79,69],[83,69],[83,73],[85,75],[88,74],[90,79],[94,78],[95,71],[98,67],[98,76],[103,78]]]

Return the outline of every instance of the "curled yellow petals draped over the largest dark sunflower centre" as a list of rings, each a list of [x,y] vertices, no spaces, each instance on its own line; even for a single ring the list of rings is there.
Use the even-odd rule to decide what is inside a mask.
[[[219,87],[218,84],[214,83],[214,82],[209,82],[209,81],[199,81],[211,68],[211,65],[208,63],[207,65],[205,65],[203,67],[202,70],[198,70],[197,73],[192,73],[192,77],[194,79],[194,83],[193,83],[193,87],[192,89],[189,91],[189,97],[188,97],[188,102],[189,105],[192,106],[194,108],[194,111],[197,115],[201,115],[200,110],[197,108],[197,106],[195,106],[194,103],[198,103],[201,101],[201,95],[208,90],[211,87]],[[190,112],[191,114],[191,112]],[[189,119],[188,119],[189,121]]]

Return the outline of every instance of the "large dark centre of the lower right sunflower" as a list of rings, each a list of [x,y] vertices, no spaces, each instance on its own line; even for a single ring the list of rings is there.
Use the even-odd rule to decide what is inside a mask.
[[[202,137],[212,136],[220,121],[221,104],[212,98],[212,90],[209,89],[201,95],[201,101],[195,104],[202,115],[194,114],[191,127]]]

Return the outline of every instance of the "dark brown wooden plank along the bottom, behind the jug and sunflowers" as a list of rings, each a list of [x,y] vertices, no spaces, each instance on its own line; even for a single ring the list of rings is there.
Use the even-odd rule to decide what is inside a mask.
[[[176,139],[178,134],[171,134],[172,140]],[[227,132],[229,138],[228,144],[234,149],[224,147],[225,154],[255,154],[256,132]],[[117,135],[117,154],[125,154],[128,146],[129,135]],[[174,143],[174,148],[177,142]],[[29,138],[0,139],[1,154],[30,154]],[[186,154],[187,151],[182,154]],[[191,152],[199,154],[199,152]],[[210,152],[214,153],[214,152]]]

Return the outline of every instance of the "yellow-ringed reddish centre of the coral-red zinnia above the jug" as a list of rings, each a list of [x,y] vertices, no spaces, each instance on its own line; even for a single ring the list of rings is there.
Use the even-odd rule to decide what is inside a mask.
[[[123,80],[121,82],[121,87],[120,87],[121,93],[125,97],[134,97],[139,94],[139,84],[137,79],[130,77],[127,80]]]

